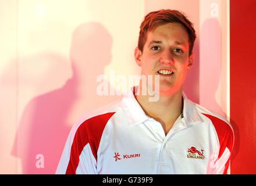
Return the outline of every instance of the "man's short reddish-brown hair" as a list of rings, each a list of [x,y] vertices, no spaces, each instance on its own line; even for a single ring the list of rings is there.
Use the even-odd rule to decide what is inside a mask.
[[[158,26],[167,23],[180,23],[186,28],[189,34],[189,55],[191,55],[194,47],[194,41],[196,38],[193,23],[184,15],[184,13],[178,10],[162,9],[148,13],[144,21],[140,25],[140,35],[138,37],[138,49],[143,52],[143,47],[147,41],[147,34],[149,31],[154,30]]]

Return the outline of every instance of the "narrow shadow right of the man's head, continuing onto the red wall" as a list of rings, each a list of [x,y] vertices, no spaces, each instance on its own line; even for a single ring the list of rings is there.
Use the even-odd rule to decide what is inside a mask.
[[[206,108],[208,107],[210,110],[213,110],[216,113],[219,113],[223,117],[226,117],[225,110],[221,108],[221,105],[219,105],[215,99],[215,94],[218,90],[219,84],[221,83],[222,55],[226,55],[226,53],[223,53],[222,50],[221,26],[219,25],[218,20],[212,18],[206,20],[202,24],[200,40],[200,48],[201,52],[203,52],[201,54],[200,62],[201,64],[207,63],[207,65],[204,65],[204,71],[202,72],[203,75],[200,74],[200,86],[202,86],[204,91],[206,91],[206,94],[204,93],[203,97],[203,102],[205,103],[203,106]],[[224,94],[222,90],[221,93]],[[230,118],[230,124],[232,124],[234,131],[234,148],[231,157],[232,163],[234,158],[236,158],[237,153],[239,152],[240,134],[239,128],[237,124],[234,123],[232,118]]]

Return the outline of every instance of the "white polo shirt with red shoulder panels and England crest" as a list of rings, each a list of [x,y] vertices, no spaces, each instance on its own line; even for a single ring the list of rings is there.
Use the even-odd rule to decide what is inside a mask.
[[[72,127],[57,174],[227,174],[230,124],[183,94],[183,114],[165,135],[133,94]]]

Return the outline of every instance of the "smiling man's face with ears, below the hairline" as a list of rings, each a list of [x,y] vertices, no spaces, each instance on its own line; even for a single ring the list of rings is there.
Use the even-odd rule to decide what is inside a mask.
[[[148,33],[143,53],[136,48],[135,58],[142,75],[160,76],[161,95],[182,91],[194,58],[189,56],[186,28],[179,23],[158,26]]]

